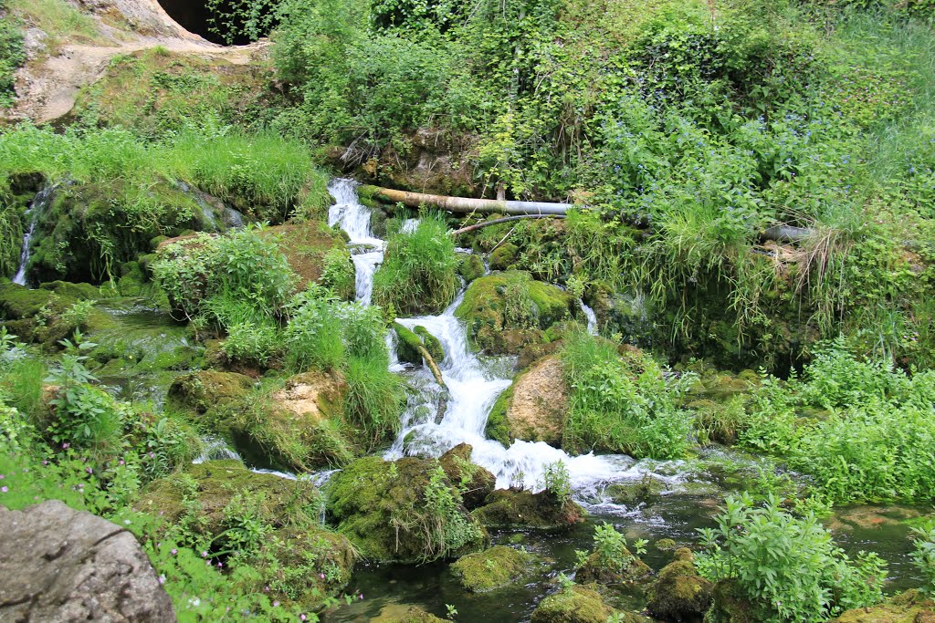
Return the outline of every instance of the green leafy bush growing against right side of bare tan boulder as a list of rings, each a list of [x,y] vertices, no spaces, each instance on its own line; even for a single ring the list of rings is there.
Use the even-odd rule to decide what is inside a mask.
[[[688,448],[691,418],[676,406],[687,387],[670,385],[639,351],[627,358],[602,338],[576,331],[562,348],[571,396],[562,445],[672,459]]]

